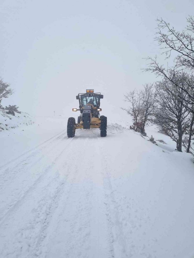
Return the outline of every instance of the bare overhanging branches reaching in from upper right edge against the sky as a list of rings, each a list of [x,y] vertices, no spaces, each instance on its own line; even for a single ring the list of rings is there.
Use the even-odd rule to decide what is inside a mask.
[[[182,90],[186,91],[188,95],[188,108],[193,105],[194,95],[192,92],[187,89],[192,89],[194,92],[194,84],[191,80],[185,80],[182,87],[182,84],[179,83],[179,77],[176,75],[181,73],[186,73],[185,69],[191,69],[194,71],[194,20],[192,16],[188,16],[187,23],[188,25],[183,31],[176,31],[170,23],[164,21],[162,18],[157,19],[158,31],[155,40],[158,41],[161,49],[164,51],[163,54],[166,55],[168,59],[171,56],[171,53],[177,53],[177,56],[174,58],[175,65],[172,68],[164,67],[157,62],[156,57],[148,57],[149,60],[148,68],[144,69],[146,71],[151,71],[155,73],[156,76],[161,76],[167,78],[169,81],[174,83],[177,87],[181,87]],[[193,74],[191,74],[193,76]],[[187,73],[186,73],[187,77]],[[182,78],[181,78],[182,80]]]

